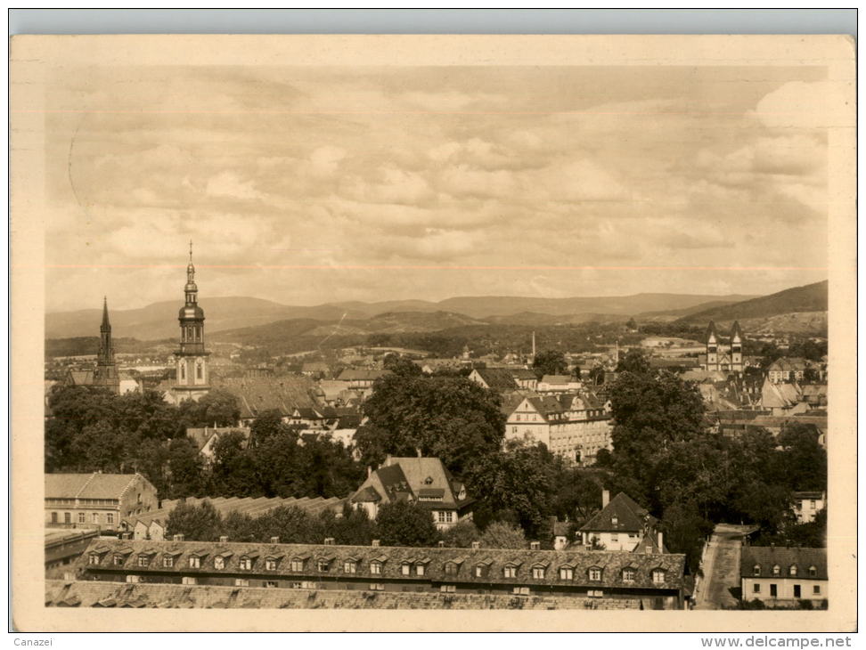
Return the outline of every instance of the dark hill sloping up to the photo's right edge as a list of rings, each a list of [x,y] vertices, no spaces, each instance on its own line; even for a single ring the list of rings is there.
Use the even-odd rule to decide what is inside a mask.
[[[777,328],[783,328],[786,321],[791,321],[795,325],[794,331],[797,331],[802,329],[804,322],[820,322],[821,317],[818,314],[824,313],[823,323],[826,329],[827,292],[828,282],[824,280],[804,287],[788,288],[770,296],[743,300],[732,305],[714,306],[690,313],[679,321],[695,325],[706,325],[709,321],[722,325],[740,321],[744,329],[748,329],[748,324],[751,324],[752,329],[761,329],[759,323],[761,320],[773,321]],[[810,315],[797,317],[794,314]],[[790,318],[785,318],[786,316]]]

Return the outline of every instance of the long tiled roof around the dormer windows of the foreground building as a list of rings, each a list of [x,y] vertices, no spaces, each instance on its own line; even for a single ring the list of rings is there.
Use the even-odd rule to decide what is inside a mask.
[[[96,548],[107,548],[96,557],[98,564],[90,564],[90,552]],[[118,556],[123,548],[131,548],[128,555]],[[537,584],[537,585],[572,585],[578,587],[599,588],[627,588],[627,589],[680,589],[682,587],[682,573],[685,556],[674,554],[662,555],[636,555],[625,551],[575,551],[575,550],[527,550],[527,549],[501,549],[501,548],[409,548],[409,547],[374,547],[374,546],[333,546],[320,544],[254,544],[254,543],[220,543],[201,541],[150,541],[150,540],[94,540],[82,556],[81,563],[88,571],[102,568],[110,571],[124,571],[130,573],[149,573],[150,567],[138,566],[138,556],[144,551],[157,549],[159,555],[154,557],[155,565],[151,570],[159,573],[177,573],[184,575],[225,573],[245,573],[241,569],[241,557],[255,557],[253,567],[249,570],[250,575],[309,575],[319,573],[315,564],[307,561],[302,572],[291,572],[290,560],[292,558],[320,558],[331,559],[331,565],[327,573],[322,575],[347,575],[342,573],[343,562],[349,558],[355,559],[358,565],[352,578],[364,579],[365,576],[375,576],[376,579],[396,581],[417,581],[417,576],[404,576],[402,565],[404,563],[416,564],[425,562],[425,581],[435,582],[461,582],[461,583],[499,583],[499,584]],[[225,569],[214,568],[213,556],[219,550],[230,550],[233,555],[225,557]],[[165,567],[160,560],[161,554],[165,552],[180,555],[171,567]],[[189,565],[188,557],[194,554],[206,554],[207,557],[200,563],[199,568]],[[268,570],[266,564],[261,561],[262,557],[278,557],[282,555],[284,560],[277,563],[276,568]],[[380,573],[370,573],[370,563],[380,557],[387,557],[382,563]],[[117,558],[117,559],[116,559]],[[456,573],[446,574],[445,565],[457,563],[459,568]],[[116,564],[120,562],[120,564]],[[482,563],[490,563],[489,573],[481,578],[475,575],[475,566]],[[514,578],[506,578],[502,568],[506,565],[516,566],[517,573]],[[545,572],[543,578],[533,578],[533,566],[549,566],[550,570]],[[574,567],[573,580],[560,579],[559,567],[569,565]],[[624,581],[623,569],[633,567],[636,575],[633,581]],[[589,579],[590,569],[600,569],[600,581]],[[652,572],[661,569],[665,572],[665,580],[655,582]]]

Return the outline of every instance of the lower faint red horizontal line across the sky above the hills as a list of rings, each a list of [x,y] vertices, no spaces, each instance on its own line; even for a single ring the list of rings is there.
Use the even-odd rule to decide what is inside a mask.
[[[14,264],[28,268],[30,264]],[[45,264],[47,269],[182,269],[185,264]],[[827,271],[826,266],[540,266],[432,264],[196,264],[197,269],[420,270],[420,271]]]

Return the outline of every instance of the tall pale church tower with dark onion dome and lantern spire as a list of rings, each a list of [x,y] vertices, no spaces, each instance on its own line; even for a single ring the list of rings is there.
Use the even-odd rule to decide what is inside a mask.
[[[199,288],[195,284],[195,266],[192,265],[192,241],[190,241],[190,264],[186,267],[184,306],[177,314],[180,321],[180,347],[175,353],[176,377],[172,386],[174,402],[199,400],[210,390],[208,353],[204,345],[204,310],[199,306]]]

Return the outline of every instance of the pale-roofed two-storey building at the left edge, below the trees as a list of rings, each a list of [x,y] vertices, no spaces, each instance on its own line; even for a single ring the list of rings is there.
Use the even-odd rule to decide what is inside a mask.
[[[140,474],[46,474],[45,524],[121,530],[123,519],[156,510],[157,491]]]

